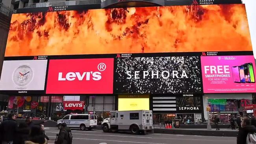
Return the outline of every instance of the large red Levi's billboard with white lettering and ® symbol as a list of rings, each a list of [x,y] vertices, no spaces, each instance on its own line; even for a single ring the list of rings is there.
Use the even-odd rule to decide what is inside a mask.
[[[50,60],[46,94],[112,94],[113,61],[113,58]]]

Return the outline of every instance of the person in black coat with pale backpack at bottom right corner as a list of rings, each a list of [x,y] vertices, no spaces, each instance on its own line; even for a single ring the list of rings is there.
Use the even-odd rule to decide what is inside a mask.
[[[252,126],[247,118],[242,120],[241,125],[242,128],[238,131],[237,135],[237,144],[256,144],[256,127]],[[250,141],[250,143],[247,143],[247,141]]]

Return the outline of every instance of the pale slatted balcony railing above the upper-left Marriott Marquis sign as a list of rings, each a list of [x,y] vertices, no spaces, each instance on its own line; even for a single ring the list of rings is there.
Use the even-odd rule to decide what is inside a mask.
[[[48,7],[48,6],[75,6],[75,5],[85,5],[85,4],[100,4],[100,3],[101,3],[101,0],[73,0],[73,1],[63,1],[63,2],[41,2],[41,3],[25,4],[24,8]]]

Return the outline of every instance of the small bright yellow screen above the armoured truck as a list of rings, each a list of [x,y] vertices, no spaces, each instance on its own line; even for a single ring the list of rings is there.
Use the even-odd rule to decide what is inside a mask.
[[[149,110],[149,96],[148,95],[119,95],[118,110],[119,111],[133,111],[133,110]]]

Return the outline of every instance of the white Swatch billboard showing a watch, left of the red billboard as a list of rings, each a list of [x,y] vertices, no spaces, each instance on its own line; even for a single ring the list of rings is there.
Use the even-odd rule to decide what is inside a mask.
[[[4,61],[0,90],[45,90],[47,60]]]

